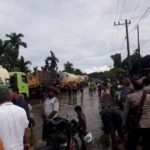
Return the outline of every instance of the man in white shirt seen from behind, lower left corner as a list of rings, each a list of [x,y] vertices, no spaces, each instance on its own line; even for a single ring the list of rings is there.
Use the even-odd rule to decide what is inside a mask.
[[[26,112],[10,102],[9,89],[0,90],[0,139],[5,150],[30,147]]]

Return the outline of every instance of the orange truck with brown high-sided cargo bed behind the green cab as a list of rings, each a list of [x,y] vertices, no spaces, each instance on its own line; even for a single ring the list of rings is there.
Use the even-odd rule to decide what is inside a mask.
[[[43,87],[54,86],[58,83],[59,75],[57,72],[37,70],[28,76],[30,96],[37,98],[40,96]]]

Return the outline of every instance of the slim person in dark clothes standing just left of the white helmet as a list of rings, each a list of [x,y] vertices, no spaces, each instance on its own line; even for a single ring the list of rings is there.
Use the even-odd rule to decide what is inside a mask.
[[[81,142],[82,142],[81,150],[86,150],[86,144],[84,141],[84,137],[87,134],[86,116],[83,113],[81,106],[75,106],[74,110],[77,113],[77,117],[78,117],[79,124],[80,124],[79,137],[80,137]]]

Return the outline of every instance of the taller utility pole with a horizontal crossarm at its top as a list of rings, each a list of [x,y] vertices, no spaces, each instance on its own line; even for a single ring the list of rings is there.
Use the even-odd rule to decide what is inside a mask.
[[[132,66],[131,66],[131,58],[130,58],[130,44],[129,44],[129,33],[128,33],[128,25],[131,24],[131,21],[125,20],[125,23],[116,23],[114,22],[114,26],[119,26],[119,25],[125,25],[126,27],[126,39],[127,39],[127,54],[128,54],[128,71],[130,72]]]

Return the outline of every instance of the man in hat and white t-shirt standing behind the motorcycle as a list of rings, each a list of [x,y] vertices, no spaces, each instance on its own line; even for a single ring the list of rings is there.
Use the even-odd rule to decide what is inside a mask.
[[[45,99],[43,103],[43,140],[47,141],[49,136],[49,129],[47,126],[48,120],[54,119],[57,117],[57,113],[59,111],[59,100],[56,98],[58,94],[57,89],[54,87],[48,88],[48,97]],[[48,143],[47,143],[48,144]]]

